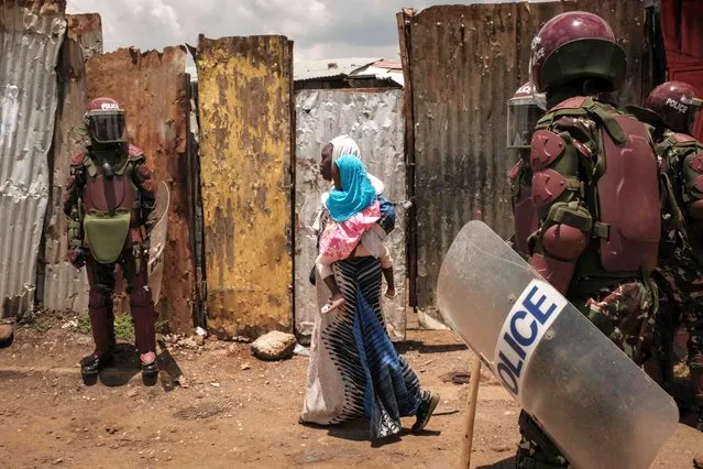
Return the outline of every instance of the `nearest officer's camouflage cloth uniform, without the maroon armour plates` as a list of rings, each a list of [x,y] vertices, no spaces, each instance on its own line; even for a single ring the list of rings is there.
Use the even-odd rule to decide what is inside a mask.
[[[548,203],[540,199],[538,194],[534,194],[541,225],[540,230],[530,241],[535,246],[535,253],[539,255],[545,252],[542,237],[551,227],[568,222],[589,233],[587,239],[584,239],[583,251],[575,260],[573,276],[569,284],[562,285],[561,290],[567,298],[628,357],[639,360],[645,332],[655,325],[658,304],[657,287],[649,275],[642,272],[611,273],[604,270],[598,250],[603,234],[607,230],[603,228],[602,222],[594,221],[598,212],[594,193],[597,183],[579,178],[581,174],[593,174],[598,171],[596,168],[598,157],[594,150],[601,148],[598,130],[604,126],[603,118],[605,117],[608,124],[613,126],[613,117],[624,114],[595,99],[580,100],[583,100],[583,103],[578,108],[570,109],[567,106],[556,111],[551,110],[538,124],[538,130],[548,130],[569,140],[569,146],[575,150],[571,157],[578,164],[571,166],[573,173],[569,175],[570,164],[564,161],[569,154],[565,153],[552,166],[549,166],[567,175],[570,187],[560,198]],[[587,108],[591,110],[586,111]],[[576,170],[579,165],[581,168]],[[532,170],[543,171],[539,166],[534,166]],[[656,175],[652,177],[656,179]],[[558,211],[559,209],[561,212]],[[657,212],[657,220],[658,218]],[[538,266],[535,262],[532,264]],[[559,277],[546,274],[546,277],[557,286],[562,281],[563,274]],[[519,455],[529,456],[530,459],[529,463],[521,466],[518,463],[517,467],[568,466],[565,458],[549,437],[524,412],[520,415],[519,427],[521,441],[518,457]]]

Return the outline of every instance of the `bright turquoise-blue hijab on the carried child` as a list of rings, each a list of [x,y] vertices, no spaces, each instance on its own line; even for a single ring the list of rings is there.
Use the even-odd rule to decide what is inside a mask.
[[[334,221],[342,222],[370,207],[376,198],[376,189],[359,157],[342,155],[332,164],[339,170],[342,190],[330,190],[327,209]]]

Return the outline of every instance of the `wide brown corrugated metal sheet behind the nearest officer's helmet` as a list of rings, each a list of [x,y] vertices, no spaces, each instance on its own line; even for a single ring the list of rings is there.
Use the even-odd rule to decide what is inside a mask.
[[[433,310],[435,286],[461,227],[480,218],[501,236],[510,234],[506,101],[528,79],[530,43],[539,28],[575,9],[611,23],[628,57],[622,100],[640,102],[645,10],[639,0],[431,7],[409,18],[409,35],[402,28],[415,130],[409,159],[416,164],[417,307],[425,326],[443,327]]]

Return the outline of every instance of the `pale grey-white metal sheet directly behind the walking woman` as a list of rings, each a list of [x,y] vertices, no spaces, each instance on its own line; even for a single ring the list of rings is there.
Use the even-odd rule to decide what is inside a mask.
[[[308,281],[317,257],[312,222],[327,185],[319,174],[322,146],[348,133],[361,150],[369,173],[382,179],[386,196],[406,199],[402,89],[306,89],[296,92],[295,182],[295,323],[299,336],[312,331],[317,309],[316,290]],[[398,206],[396,229],[386,243],[393,257],[398,298],[384,299],[388,334],[405,339],[406,324],[406,218]]]

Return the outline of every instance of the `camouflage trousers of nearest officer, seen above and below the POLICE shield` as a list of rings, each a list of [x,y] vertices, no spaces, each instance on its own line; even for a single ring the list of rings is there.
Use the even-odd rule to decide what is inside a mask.
[[[653,282],[627,282],[569,299],[628,357],[638,361],[646,331],[655,324],[657,287]],[[516,468],[569,467],[567,458],[525,411],[520,413],[519,430]]]

